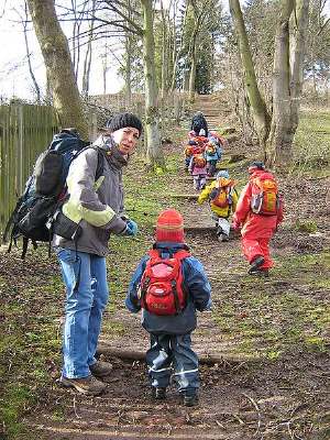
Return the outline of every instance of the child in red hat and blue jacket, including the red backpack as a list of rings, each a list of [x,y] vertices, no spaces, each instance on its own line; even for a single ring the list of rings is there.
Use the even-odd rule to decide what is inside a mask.
[[[184,405],[196,405],[199,373],[191,332],[196,309],[211,307],[211,287],[185,244],[184,219],[176,210],[160,215],[156,242],[132,276],[125,305],[132,312],[142,308],[142,326],[150,333],[146,364],[153,397],[166,397],[174,371]]]

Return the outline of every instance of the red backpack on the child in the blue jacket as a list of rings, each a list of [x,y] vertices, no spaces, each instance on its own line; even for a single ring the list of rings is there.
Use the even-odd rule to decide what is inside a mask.
[[[186,307],[183,289],[182,261],[191,256],[180,250],[172,258],[162,258],[157,250],[148,252],[150,260],[141,278],[141,307],[154,315],[178,315]]]

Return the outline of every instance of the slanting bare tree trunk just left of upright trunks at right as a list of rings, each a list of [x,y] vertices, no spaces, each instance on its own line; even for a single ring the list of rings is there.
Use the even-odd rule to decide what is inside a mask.
[[[239,0],[229,0],[230,12],[234,23],[234,31],[239,43],[239,51],[242,59],[244,87],[251,105],[252,116],[260,145],[266,150],[266,139],[270,133],[271,118],[265,101],[257,87],[254,65],[250,51],[248,34]]]

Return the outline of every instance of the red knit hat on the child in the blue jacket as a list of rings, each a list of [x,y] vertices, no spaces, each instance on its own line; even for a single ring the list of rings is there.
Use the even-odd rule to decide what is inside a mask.
[[[156,241],[185,242],[184,219],[175,209],[161,212],[156,224]]]

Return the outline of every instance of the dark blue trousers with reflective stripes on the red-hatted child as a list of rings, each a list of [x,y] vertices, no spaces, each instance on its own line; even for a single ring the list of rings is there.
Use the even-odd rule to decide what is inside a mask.
[[[172,371],[179,392],[199,387],[198,358],[191,349],[191,337],[187,334],[151,334],[151,348],[145,359],[151,386],[166,388]]]

